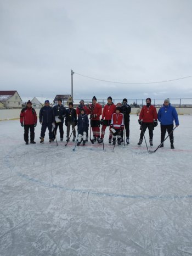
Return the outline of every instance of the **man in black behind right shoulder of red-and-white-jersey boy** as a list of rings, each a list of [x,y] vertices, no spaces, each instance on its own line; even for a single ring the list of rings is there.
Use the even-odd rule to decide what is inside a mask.
[[[130,123],[130,113],[131,107],[127,104],[127,99],[123,99],[122,106],[121,106],[121,113],[124,117],[124,125],[126,130],[126,143],[129,144],[129,123]],[[123,142],[123,131],[121,131],[121,143]]]

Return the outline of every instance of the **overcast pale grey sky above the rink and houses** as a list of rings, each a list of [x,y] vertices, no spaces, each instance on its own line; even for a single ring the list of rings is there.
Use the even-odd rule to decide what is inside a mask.
[[[192,77],[135,84],[192,76],[191,0],[0,4],[0,90],[53,100],[72,69],[74,98],[192,98]]]

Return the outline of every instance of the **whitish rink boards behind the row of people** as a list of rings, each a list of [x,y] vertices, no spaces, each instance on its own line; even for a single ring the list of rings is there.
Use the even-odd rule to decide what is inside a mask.
[[[179,115],[192,115],[192,108],[176,108],[177,113]],[[36,109],[37,116],[39,115],[39,110]],[[139,108],[132,108],[131,114],[138,114]],[[159,108],[157,108],[158,112]],[[3,120],[13,120],[13,119],[19,119],[21,109],[0,109],[0,121]]]

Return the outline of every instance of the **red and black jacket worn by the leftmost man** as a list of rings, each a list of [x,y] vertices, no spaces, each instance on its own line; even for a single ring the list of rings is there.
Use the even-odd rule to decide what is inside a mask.
[[[37,124],[37,114],[34,108],[23,108],[20,113],[20,123],[24,125]]]

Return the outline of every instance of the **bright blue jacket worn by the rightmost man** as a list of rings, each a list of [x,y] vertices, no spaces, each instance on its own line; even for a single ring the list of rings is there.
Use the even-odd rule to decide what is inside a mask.
[[[158,120],[160,121],[161,125],[172,125],[173,121],[176,125],[179,125],[179,119],[177,111],[171,104],[168,106],[163,106],[159,109],[158,112]]]

